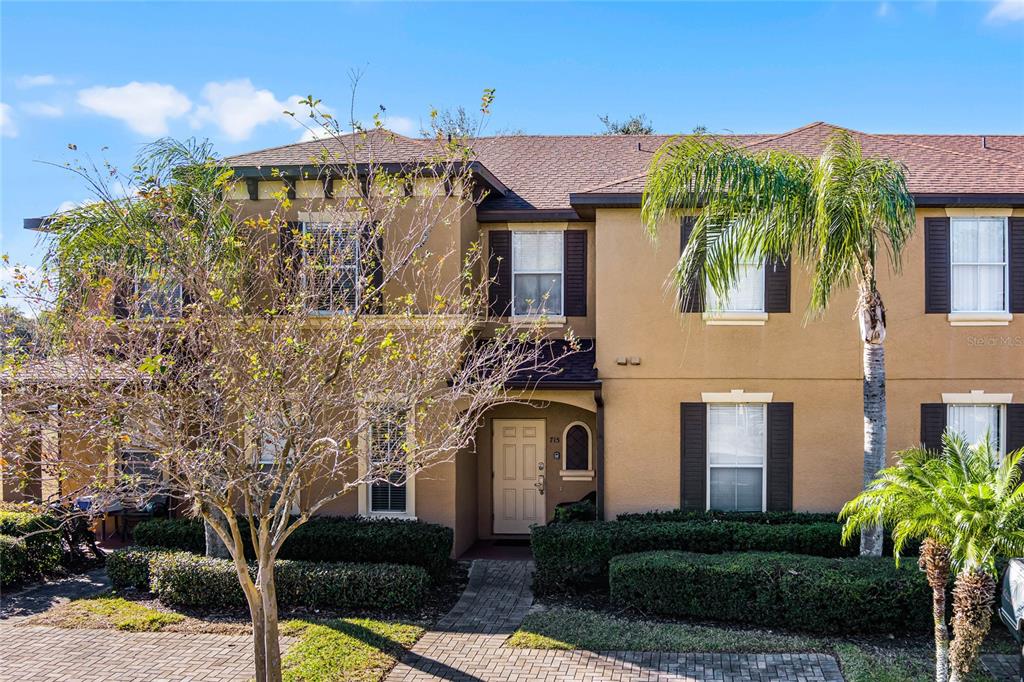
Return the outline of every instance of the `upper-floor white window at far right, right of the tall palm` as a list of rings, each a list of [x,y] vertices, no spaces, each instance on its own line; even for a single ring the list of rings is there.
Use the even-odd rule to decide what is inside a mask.
[[[951,218],[949,229],[952,312],[1006,312],[1006,218]]]

